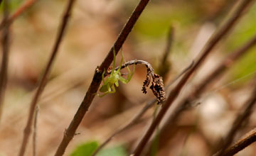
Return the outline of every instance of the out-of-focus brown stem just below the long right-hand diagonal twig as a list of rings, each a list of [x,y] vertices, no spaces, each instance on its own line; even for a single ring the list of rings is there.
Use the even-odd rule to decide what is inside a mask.
[[[191,108],[193,101],[200,98],[201,94],[203,94],[203,91],[212,84],[212,82],[220,77],[221,74],[223,74],[229,67],[234,65],[236,61],[238,61],[242,56],[244,56],[247,52],[249,52],[250,48],[256,45],[256,35],[252,37],[245,45],[242,45],[241,48],[238,48],[238,50],[235,50],[235,52],[231,52],[230,55],[225,57],[225,59],[218,65],[218,67],[215,67],[213,69],[213,72],[208,74],[200,84],[198,84],[193,92],[187,96],[185,99],[183,99],[179,104],[178,107],[175,108],[174,113],[169,116],[166,123],[164,124],[163,128],[161,128],[161,134],[164,136],[160,138],[160,140],[169,140],[169,137],[166,136],[167,132],[170,132],[172,129],[174,129],[174,123],[178,116],[180,116],[181,112],[185,111],[188,108]],[[164,147],[161,144],[160,147]]]

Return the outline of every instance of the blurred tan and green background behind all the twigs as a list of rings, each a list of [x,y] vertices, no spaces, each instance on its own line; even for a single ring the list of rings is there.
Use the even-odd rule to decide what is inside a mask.
[[[11,13],[24,1],[10,1]],[[138,0],[76,1],[39,102],[38,156],[55,153],[65,128],[85,96],[95,68],[109,52],[137,3]],[[29,104],[50,57],[66,4],[67,1],[63,0],[37,0],[11,25],[8,82],[0,123],[1,156],[18,155]],[[169,70],[164,76],[164,84],[167,85],[191,64],[210,35],[228,18],[234,4],[235,0],[152,0],[124,43],[124,59],[145,60],[154,67],[156,73],[159,72],[167,36],[170,28],[173,28],[174,35],[167,57]],[[230,52],[256,35],[255,19],[256,5],[218,44],[195,77],[189,80],[178,100],[189,94]],[[120,60],[118,55],[117,65]],[[193,101],[191,108],[183,111],[171,130],[161,134],[166,135],[164,139],[160,137],[156,145],[149,143],[151,146],[146,148],[144,155],[207,155],[215,143],[226,135],[250,96],[256,75],[255,60],[256,49],[251,48],[212,82]],[[75,135],[65,155],[75,155],[75,150],[81,145],[100,145],[115,130],[134,118],[146,101],[154,99],[151,91],[142,93],[144,79],[146,68],[137,65],[129,84],[120,84],[115,94],[107,94],[102,98],[95,96],[77,130],[80,134]],[[149,108],[134,126],[117,135],[100,155],[121,156],[132,152],[151,123],[156,107],[155,104]],[[235,136],[235,140],[255,127],[254,114]],[[168,114],[164,121],[167,120]],[[27,155],[32,155],[31,146],[30,141]],[[256,145],[252,144],[238,155],[250,156],[255,153]]]

